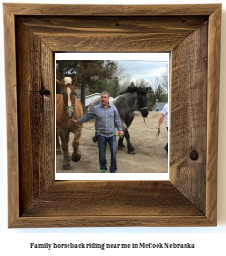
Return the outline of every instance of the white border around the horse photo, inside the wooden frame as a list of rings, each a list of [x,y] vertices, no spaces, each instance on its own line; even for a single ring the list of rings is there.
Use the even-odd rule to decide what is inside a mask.
[[[55,65],[59,60],[147,60],[147,61],[165,61],[170,65],[170,53],[55,53]],[[55,66],[56,67],[56,66]],[[169,70],[169,69],[168,69]],[[169,73],[170,74],[170,73]],[[169,76],[170,77],[170,76]],[[56,69],[55,69],[56,78]],[[168,82],[170,86],[170,82]],[[170,92],[170,89],[168,90]],[[170,93],[169,93],[170,94]],[[170,95],[168,100],[170,99]],[[55,119],[56,120],[56,119]],[[169,123],[170,124],[170,123]],[[56,127],[56,124],[55,124]],[[170,128],[168,132],[168,142],[170,140]],[[56,137],[56,136],[55,136]],[[56,141],[55,141],[56,144]],[[170,152],[169,152],[170,154]],[[55,155],[55,180],[169,180],[169,158],[167,173],[57,173],[56,172],[56,155]]]

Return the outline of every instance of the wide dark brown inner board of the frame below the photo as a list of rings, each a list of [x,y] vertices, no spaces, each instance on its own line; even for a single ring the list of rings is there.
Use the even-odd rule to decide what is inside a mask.
[[[53,215],[203,216],[169,181],[58,181],[39,196],[23,217]]]

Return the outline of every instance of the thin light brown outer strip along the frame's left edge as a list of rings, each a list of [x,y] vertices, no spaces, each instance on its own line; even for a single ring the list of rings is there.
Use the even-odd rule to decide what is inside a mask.
[[[18,108],[15,52],[14,14],[3,5],[6,116],[7,116],[7,165],[8,165],[8,225],[19,216],[19,152],[18,152]]]

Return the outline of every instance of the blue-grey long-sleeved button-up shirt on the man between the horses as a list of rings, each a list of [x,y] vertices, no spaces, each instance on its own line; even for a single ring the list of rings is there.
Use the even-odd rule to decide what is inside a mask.
[[[111,103],[107,108],[104,108],[101,103],[95,105],[88,113],[79,118],[78,122],[84,123],[93,118],[96,118],[97,135],[110,137],[116,133],[115,127],[118,131],[122,130],[117,108]]]

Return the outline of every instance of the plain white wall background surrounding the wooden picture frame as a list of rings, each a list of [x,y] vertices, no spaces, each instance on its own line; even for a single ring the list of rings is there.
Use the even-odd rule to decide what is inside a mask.
[[[224,248],[226,238],[226,119],[224,110],[226,109],[226,1],[225,0],[199,0],[199,1],[68,1],[68,0],[36,0],[36,1],[1,1],[1,26],[0,26],[0,252],[16,253],[17,255],[99,255],[107,253],[127,254],[142,253],[142,255],[200,255],[206,252],[216,253],[216,255],[225,255]],[[70,229],[8,229],[7,228],[7,149],[6,149],[6,102],[5,102],[5,77],[4,77],[4,47],[3,47],[3,19],[2,19],[2,3],[58,3],[58,4],[206,4],[206,3],[222,3],[222,41],[221,41],[221,83],[220,83],[220,124],[219,124],[219,152],[218,152],[218,226],[209,228],[70,228]],[[7,77],[6,77],[7,79]],[[10,104],[10,103],[8,103]],[[195,249],[141,249],[141,250],[47,250],[47,249],[30,249],[30,243],[194,243]],[[221,251],[220,253],[219,250]]]

